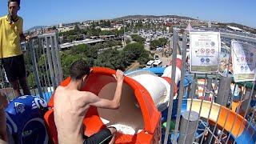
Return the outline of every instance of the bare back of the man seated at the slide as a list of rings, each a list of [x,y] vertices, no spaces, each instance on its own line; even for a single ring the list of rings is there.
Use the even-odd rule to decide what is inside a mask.
[[[59,143],[82,143],[82,120],[90,106],[86,106],[86,92],[66,90],[58,86],[54,94],[54,121]]]

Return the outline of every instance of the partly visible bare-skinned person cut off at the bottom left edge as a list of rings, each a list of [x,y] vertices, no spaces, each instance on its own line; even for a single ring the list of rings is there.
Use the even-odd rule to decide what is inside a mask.
[[[5,94],[0,93],[0,143],[8,142],[5,108],[8,105]],[[5,141],[5,142],[3,142]]]

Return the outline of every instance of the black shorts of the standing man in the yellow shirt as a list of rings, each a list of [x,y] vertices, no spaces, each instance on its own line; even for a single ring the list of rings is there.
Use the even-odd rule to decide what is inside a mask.
[[[14,82],[20,78],[26,77],[23,54],[10,58],[2,58],[2,65],[6,70],[6,76],[9,82]]]

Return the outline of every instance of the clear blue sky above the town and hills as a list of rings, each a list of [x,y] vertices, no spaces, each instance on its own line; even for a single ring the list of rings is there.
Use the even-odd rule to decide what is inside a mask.
[[[0,0],[0,16],[7,14]],[[62,22],[117,18],[130,14],[177,14],[256,27],[256,0],[21,0],[24,30]]]

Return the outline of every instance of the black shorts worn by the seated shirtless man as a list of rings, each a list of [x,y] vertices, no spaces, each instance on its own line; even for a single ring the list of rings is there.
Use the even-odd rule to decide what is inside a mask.
[[[85,138],[83,144],[107,144],[110,143],[113,135],[108,128],[100,130],[98,133]]]

